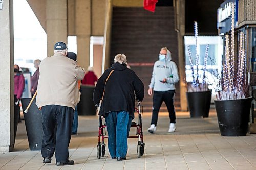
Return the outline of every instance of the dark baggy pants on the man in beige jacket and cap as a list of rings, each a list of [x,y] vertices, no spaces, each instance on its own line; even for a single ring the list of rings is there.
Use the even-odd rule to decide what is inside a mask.
[[[62,163],[67,162],[69,158],[69,142],[72,133],[74,109],[67,106],[47,105],[42,107],[41,113],[43,132],[42,157],[52,157],[54,151],[56,151],[56,161]]]

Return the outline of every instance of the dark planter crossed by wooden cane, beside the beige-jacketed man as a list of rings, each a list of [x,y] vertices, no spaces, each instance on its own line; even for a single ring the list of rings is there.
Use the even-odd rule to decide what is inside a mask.
[[[31,99],[32,98],[22,98],[23,113]],[[32,102],[28,112],[23,114],[29,140],[29,149],[31,151],[41,150],[42,145],[42,115],[35,104],[35,100],[36,99]]]

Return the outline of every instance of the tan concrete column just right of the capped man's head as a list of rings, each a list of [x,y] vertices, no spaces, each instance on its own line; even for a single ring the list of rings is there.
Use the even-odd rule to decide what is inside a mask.
[[[81,67],[90,65],[91,1],[76,0],[77,60]]]

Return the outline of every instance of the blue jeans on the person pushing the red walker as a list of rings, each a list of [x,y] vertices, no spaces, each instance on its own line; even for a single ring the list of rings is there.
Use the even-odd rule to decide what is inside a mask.
[[[111,157],[126,158],[127,138],[132,124],[132,117],[127,111],[109,112],[106,114],[108,128],[108,147]]]

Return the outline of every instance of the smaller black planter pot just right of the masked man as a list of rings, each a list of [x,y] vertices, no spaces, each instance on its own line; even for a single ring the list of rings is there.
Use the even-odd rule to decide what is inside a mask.
[[[211,90],[186,92],[190,117],[209,117]]]

